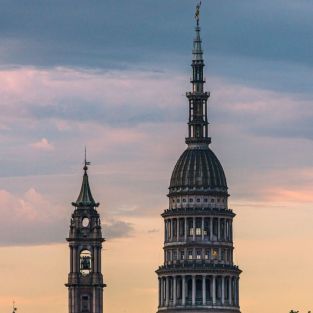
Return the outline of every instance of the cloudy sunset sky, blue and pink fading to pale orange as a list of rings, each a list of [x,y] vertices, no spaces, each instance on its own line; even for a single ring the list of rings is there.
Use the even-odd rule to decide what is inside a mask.
[[[67,312],[64,238],[85,145],[108,239],[105,311],[156,311],[195,4],[0,0],[1,312],[13,299],[21,313]],[[313,310],[312,15],[312,0],[203,1],[243,312]]]

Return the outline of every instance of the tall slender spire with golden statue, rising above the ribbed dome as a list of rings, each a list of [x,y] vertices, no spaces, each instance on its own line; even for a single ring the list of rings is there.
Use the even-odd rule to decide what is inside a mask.
[[[201,2],[196,7],[195,19],[196,36],[193,40],[193,58],[192,58],[192,92],[187,92],[186,96],[189,100],[189,121],[188,121],[188,137],[186,143],[188,145],[208,145],[211,142],[211,138],[208,137],[208,110],[207,100],[210,97],[210,93],[204,92],[204,60],[203,51],[201,47],[201,35],[200,35],[200,7]]]

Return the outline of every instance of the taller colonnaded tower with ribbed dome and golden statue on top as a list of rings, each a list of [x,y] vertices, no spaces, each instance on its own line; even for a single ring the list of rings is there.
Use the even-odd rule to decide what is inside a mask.
[[[209,148],[204,61],[197,6],[187,149],[169,187],[158,313],[239,313],[240,269],[233,263],[233,218],[224,170]]]

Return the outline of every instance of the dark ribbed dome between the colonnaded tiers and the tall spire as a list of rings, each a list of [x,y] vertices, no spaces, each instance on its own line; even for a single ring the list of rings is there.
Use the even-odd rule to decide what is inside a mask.
[[[169,189],[227,192],[227,183],[223,167],[210,148],[187,148],[175,165]]]

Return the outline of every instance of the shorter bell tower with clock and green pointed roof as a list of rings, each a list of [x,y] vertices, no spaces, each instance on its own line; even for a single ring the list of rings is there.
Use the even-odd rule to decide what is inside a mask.
[[[101,249],[104,238],[100,216],[90,190],[88,165],[84,166],[82,187],[71,218],[66,239],[70,248],[70,273],[68,274],[69,313],[103,313],[103,275]]]

